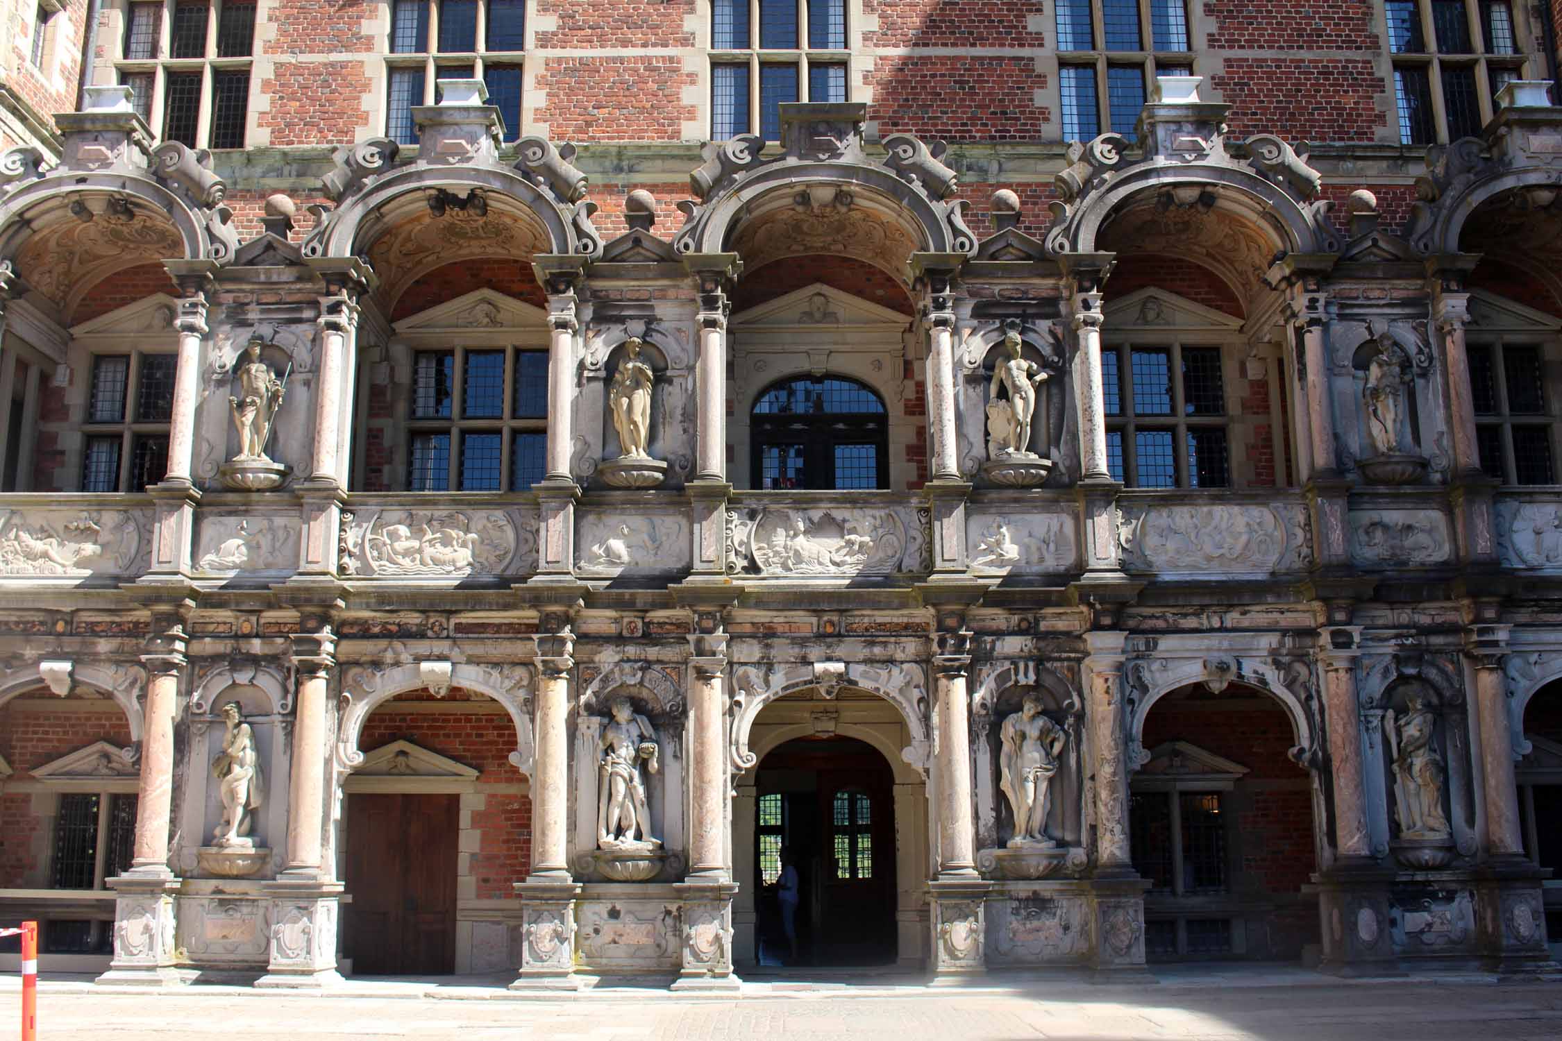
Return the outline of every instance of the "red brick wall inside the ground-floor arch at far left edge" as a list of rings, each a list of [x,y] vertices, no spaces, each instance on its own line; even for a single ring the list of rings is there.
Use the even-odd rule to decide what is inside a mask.
[[[39,696],[50,695],[39,691]],[[94,712],[22,707],[14,701],[0,707],[0,757],[14,771],[9,783],[28,780],[28,771],[36,766],[94,741],[130,746],[130,723],[112,702],[103,702],[103,709]],[[31,793],[25,791],[0,796],[0,888],[22,888],[42,868],[33,860],[42,821],[33,816],[31,799]],[[31,880],[36,882],[36,877]]]

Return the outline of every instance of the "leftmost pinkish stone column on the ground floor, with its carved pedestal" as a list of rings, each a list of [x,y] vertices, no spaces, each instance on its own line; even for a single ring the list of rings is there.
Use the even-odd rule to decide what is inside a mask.
[[[169,869],[169,816],[173,802],[173,718],[186,659],[178,620],[153,618],[158,634],[141,656],[147,668],[147,701],[141,735],[141,783],[131,868],[114,888],[114,958],[100,983],[172,985],[175,893],[180,879]]]

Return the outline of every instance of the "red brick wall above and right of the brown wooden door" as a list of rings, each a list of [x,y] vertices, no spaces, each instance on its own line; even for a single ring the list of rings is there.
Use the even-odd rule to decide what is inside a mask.
[[[456,696],[459,693],[462,691],[451,691],[451,698],[462,701],[464,698]],[[405,712],[392,701],[364,723],[358,748],[372,752],[398,740],[412,741],[480,771],[480,793],[486,785],[522,783],[522,774],[508,759],[515,751],[515,727],[503,712]],[[511,885],[525,879],[531,868],[531,799],[489,793],[484,808],[472,812],[472,827],[481,832],[478,852],[472,854],[476,897],[512,897]],[[347,841],[351,841],[351,835]],[[456,851],[450,849],[448,855],[455,857]]]

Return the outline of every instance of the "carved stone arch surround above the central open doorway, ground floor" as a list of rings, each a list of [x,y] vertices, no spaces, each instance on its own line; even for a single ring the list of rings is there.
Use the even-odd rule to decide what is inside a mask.
[[[728,751],[734,773],[751,769],[759,759],[748,748],[759,712],[778,698],[823,687],[839,690],[850,687],[876,695],[900,710],[911,744],[900,749],[900,759],[911,765],[923,779],[933,760],[933,729],[928,721],[929,701],[923,666],[912,662],[895,665],[804,662],[795,665],[754,666],[740,665],[733,670],[733,718],[728,730]]]

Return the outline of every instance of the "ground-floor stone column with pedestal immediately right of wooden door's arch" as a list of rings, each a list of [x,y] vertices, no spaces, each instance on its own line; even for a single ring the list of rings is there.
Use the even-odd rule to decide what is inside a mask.
[[[575,634],[569,626],[533,637],[536,643],[536,759],[526,785],[531,798],[531,874],[515,882],[520,897],[520,977],[514,991],[573,991],[575,899],[581,886],[569,868],[569,712]]]

